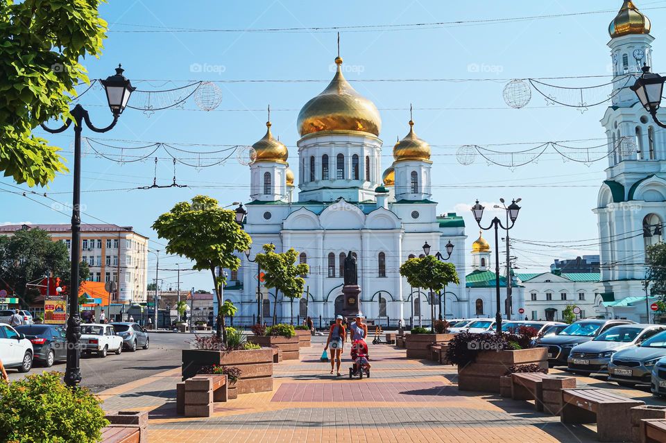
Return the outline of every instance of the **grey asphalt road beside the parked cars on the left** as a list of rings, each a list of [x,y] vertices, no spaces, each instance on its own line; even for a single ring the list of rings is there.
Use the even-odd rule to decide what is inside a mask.
[[[105,358],[95,355],[83,357],[80,360],[83,376],[81,385],[87,386],[93,392],[99,392],[180,367],[180,350],[188,349],[192,339],[194,334],[191,333],[153,333],[148,349],[123,351],[119,356],[110,353]],[[56,363],[50,368],[35,365],[28,374],[39,374],[42,371],[65,372],[65,362]],[[21,379],[26,375],[19,374],[17,370],[7,372],[10,380]]]

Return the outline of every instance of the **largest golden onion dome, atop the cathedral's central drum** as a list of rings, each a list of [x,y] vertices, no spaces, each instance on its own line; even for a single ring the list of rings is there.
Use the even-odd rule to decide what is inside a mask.
[[[320,131],[361,131],[379,135],[382,119],[375,103],[361,96],[342,75],[342,58],[335,59],[333,80],[318,96],[305,103],[298,114],[301,137]]]

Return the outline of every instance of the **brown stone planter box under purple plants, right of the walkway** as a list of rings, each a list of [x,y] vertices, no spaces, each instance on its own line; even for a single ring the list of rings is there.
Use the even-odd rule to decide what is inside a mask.
[[[548,348],[518,351],[481,351],[475,363],[458,367],[458,389],[461,391],[499,392],[499,379],[513,365],[536,363],[548,370]]]

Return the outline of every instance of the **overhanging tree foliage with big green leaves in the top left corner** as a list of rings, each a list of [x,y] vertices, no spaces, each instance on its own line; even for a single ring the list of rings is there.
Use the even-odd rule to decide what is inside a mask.
[[[44,186],[65,172],[59,148],[33,130],[71,117],[74,87],[88,83],[79,58],[99,58],[101,0],[0,0],[0,171]]]

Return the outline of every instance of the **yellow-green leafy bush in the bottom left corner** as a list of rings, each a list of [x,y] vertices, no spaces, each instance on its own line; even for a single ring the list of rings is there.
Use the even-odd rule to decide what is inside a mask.
[[[3,442],[96,443],[108,425],[101,401],[80,387],[70,390],[59,372],[0,382],[0,435]]]

